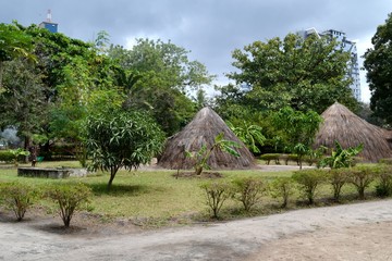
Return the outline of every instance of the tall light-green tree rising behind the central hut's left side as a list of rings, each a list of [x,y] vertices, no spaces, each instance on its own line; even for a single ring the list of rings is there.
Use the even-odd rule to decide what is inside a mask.
[[[126,107],[149,111],[167,135],[194,115],[189,91],[213,78],[204,64],[188,59],[188,51],[170,41],[137,39],[131,50],[111,46],[108,53],[125,72],[121,78],[126,80],[120,82],[127,90]]]

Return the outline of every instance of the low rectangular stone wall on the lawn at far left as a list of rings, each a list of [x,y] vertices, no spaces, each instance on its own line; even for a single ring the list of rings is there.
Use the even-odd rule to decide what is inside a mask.
[[[83,177],[87,176],[87,170],[72,167],[17,167],[17,175],[47,178],[66,178],[70,176]]]

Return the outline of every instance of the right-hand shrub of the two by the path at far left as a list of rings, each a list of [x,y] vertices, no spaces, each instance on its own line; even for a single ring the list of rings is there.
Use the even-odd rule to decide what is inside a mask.
[[[84,184],[57,184],[49,187],[46,195],[59,204],[59,214],[64,226],[69,227],[75,210],[89,202],[91,189]]]

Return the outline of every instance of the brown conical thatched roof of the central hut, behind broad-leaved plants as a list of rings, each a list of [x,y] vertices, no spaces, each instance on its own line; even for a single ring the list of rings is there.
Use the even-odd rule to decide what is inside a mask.
[[[185,157],[185,151],[198,151],[203,145],[211,148],[215,137],[220,133],[224,139],[238,142],[240,157],[231,156],[220,149],[213,150],[208,160],[211,169],[248,169],[254,166],[254,157],[245,145],[234,135],[223,120],[210,108],[201,109],[183,130],[167,140],[164,151],[158,165],[166,169],[192,169],[194,162]]]

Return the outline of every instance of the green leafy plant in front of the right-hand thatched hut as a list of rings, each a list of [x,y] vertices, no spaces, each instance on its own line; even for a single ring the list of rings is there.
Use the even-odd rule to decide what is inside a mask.
[[[351,167],[355,164],[354,157],[363,149],[363,144],[354,148],[343,149],[342,146],[335,141],[335,150],[332,150],[331,157],[327,157],[320,161],[320,166],[329,166],[331,169]]]

